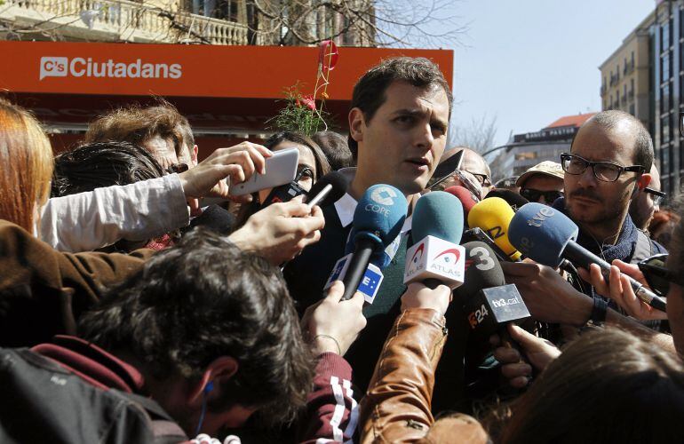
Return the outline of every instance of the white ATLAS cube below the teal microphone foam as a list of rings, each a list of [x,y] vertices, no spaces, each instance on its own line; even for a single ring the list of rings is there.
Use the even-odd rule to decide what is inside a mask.
[[[465,248],[427,235],[406,251],[404,283],[437,279],[451,289],[464,281]]]

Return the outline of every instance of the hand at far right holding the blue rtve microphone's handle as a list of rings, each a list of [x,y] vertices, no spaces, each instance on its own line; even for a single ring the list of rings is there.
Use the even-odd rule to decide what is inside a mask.
[[[632,285],[627,276],[646,285],[646,279],[641,273],[639,266],[626,264],[623,261],[616,259],[613,265],[610,266],[610,274],[608,281],[600,272],[600,267],[596,264],[589,266],[587,272],[584,268],[577,270],[579,276],[585,281],[591,283],[596,292],[602,296],[610,297],[617,305],[619,305],[632,318],[641,321],[663,320],[667,319],[667,313],[661,312],[656,308],[642,302],[639,297],[636,297]]]

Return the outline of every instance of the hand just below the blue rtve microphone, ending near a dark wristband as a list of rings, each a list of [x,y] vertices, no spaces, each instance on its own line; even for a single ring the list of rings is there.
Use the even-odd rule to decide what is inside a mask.
[[[593,300],[574,289],[549,266],[525,259],[502,262],[506,283],[514,283],[537,321],[585,325],[592,313]]]

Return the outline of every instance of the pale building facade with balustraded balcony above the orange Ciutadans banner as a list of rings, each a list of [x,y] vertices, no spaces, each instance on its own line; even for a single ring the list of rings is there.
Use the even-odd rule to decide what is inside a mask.
[[[375,46],[372,0],[3,0],[0,40]],[[350,20],[362,12],[364,20]]]

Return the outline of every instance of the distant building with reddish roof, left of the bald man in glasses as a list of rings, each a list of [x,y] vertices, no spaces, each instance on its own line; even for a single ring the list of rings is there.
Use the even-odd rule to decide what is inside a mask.
[[[497,147],[497,157],[489,162],[493,181],[520,176],[537,163],[561,162],[561,153],[569,152],[577,130],[592,115],[567,115],[540,131],[514,135],[511,142]]]

